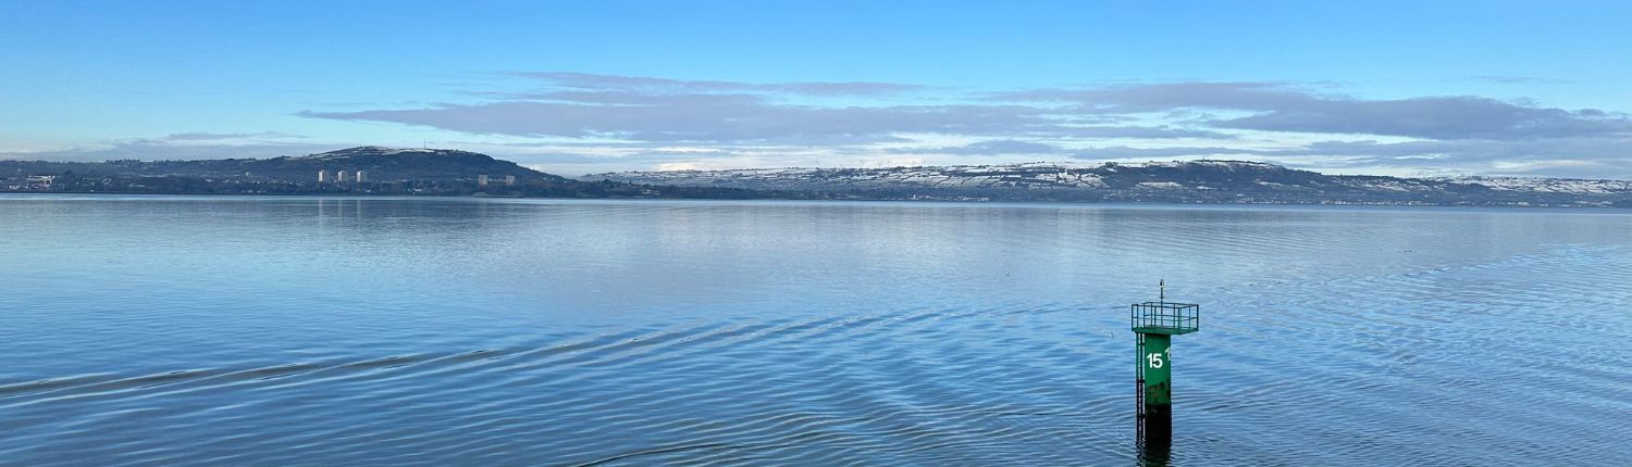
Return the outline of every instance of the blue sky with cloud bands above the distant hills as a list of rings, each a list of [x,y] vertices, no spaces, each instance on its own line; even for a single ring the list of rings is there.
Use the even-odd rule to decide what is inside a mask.
[[[0,158],[1632,179],[1632,2],[0,0]]]

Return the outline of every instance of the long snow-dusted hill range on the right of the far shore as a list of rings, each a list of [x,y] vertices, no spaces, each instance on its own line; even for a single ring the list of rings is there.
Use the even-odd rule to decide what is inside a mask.
[[[1327,176],[1253,161],[659,171],[589,174],[581,179],[816,190],[871,199],[1594,207],[1632,203],[1632,182],[1625,181]]]

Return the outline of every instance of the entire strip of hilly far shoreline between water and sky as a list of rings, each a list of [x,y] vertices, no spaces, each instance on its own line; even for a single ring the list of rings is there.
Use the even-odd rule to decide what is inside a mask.
[[[1632,208],[1627,181],[1327,176],[1257,161],[656,171],[571,179],[481,153],[384,146],[271,159],[0,161],[0,192]]]

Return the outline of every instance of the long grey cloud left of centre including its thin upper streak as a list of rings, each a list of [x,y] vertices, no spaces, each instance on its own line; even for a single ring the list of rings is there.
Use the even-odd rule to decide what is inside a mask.
[[[486,93],[486,103],[295,116],[393,122],[475,135],[658,143],[867,145],[906,133],[1072,138],[1227,138],[1208,129],[1105,125],[1118,116],[1069,106],[969,99],[878,101],[932,89],[902,83],[738,83],[589,73],[514,73],[540,89]],[[873,98],[844,106],[823,98]],[[813,101],[814,98],[814,101]]]

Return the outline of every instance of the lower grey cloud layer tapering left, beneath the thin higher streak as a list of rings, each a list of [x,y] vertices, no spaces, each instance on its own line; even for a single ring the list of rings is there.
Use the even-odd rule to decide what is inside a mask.
[[[563,96],[553,96],[561,99]],[[736,94],[571,96],[576,101],[439,104],[426,109],[299,112],[312,119],[397,122],[483,135],[633,142],[854,145],[899,133],[1097,138],[1224,137],[1170,127],[1075,125],[1051,109],[1005,104],[818,107]],[[610,101],[617,103],[610,103]]]

